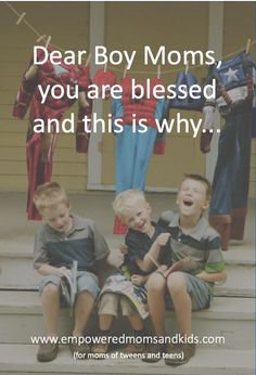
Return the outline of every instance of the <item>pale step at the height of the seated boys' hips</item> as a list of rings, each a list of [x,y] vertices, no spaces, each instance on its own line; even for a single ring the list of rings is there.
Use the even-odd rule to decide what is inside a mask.
[[[37,289],[41,276],[33,269],[29,253],[0,253],[0,289]],[[228,279],[216,284],[216,296],[255,297],[255,264],[227,263]]]

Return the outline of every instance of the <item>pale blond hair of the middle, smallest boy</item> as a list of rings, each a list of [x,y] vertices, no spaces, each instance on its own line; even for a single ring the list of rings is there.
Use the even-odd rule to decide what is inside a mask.
[[[126,209],[133,208],[138,202],[144,202],[146,203],[144,193],[139,190],[126,190],[125,192],[119,193],[112,206],[115,211],[115,214],[118,217],[123,217]]]

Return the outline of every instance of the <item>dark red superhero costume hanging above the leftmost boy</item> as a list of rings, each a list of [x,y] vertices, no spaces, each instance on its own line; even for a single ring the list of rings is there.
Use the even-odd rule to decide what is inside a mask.
[[[51,46],[48,47],[48,50],[52,50]],[[41,59],[43,59],[43,56],[38,52],[37,61],[41,61]],[[26,73],[33,65],[34,62],[30,60]],[[82,69],[82,67],[77,68],[75,65],[66,65],[62,60],[60,60],[60,65],[53,65],[48,60],[42,65],[38,66],[38,70],[33,78],[26,78],[26,73],[24,74],[22,87],[17,93],[13,116],[20,119],[24,118],[30,105],[26,140],[28,173],[27,218],[37,220],[40,219],[40,215],[34,205],[33,198],[36,188],[51,179],[56,131],[54,126],[51,126],[50,133],[37,133],[34,130],[34,121],[37,118],[42,119],[46,128],[49,119],[61,121],[64,113],[76,102],[76,99],[69,99],[67,96],[67,86],[71,88],[71,95],[74,93],[75,85],[80,85],[79,90],[86,91],[86,87],[82,85],[87,85],[88,72]],[[64,95],[61,99],[54,99],[49,90],[46,102],[42,104],[41,94],[38,88],[39,85],[41,85],[43,89],[48,86],[51,89],[54,85],[59,85],[63,88]],[[85,113],[89,113],[89,111],[91,111],[90,103],[86,109],[80,108],[79,116],[81,117]],[[85,152],[88,138],[81,133],[82,131],[77,133],[77,147],[78,151],[84,150]]]

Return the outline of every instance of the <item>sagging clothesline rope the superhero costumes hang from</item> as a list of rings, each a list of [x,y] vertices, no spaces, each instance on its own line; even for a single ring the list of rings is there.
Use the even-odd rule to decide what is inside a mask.
[[[40,33],[39,33],[39,31],[38,31],[26,18],[25,18],[25,16],[26,16],[26,13],[25,13],[25,12],[18,13],[18,12],[15,10],[15,8],[12,7],[8,1],[5,1],[5,4],[7,4],[7,7],[9,7],[9,9],[10,9],[14,14],[17,15],[18,18],[17,18],[17,22],[16,22],[16,25],[20,25],[20,24],[23,22],[23,23],[24,23],[24,24],[25,24],[25,25],[38,37],[37,41],[39,41],[39,40],[44,40],[46,43],[49,43],[51,37],[48,36],[48,35],[42,35],[42,34],[40,34]],[[253,41],[249,43],[249,48],[251,48],[252,46],[254,46],[255,43],[256,43],[256,39],[253,40]],[[62,51],[62,52],[65,51],[65,49],[63,49],[63,48],[61,48],[61,47],[59,47],[59,46],[56,46],[56,44],[51,43],[51,46],[54,47],[55,49],[57,49],[59,51]],[[242,52],[243,50],[244,50],[244,48],[242,48],[242,49],[240,49],[240,50],[236,50],[236,51],[233,51],[233,52],[231,52],[231,53],[229,53],[229,54],[222,56],[220,60],[225,60],[225,59],[231,57],[231,56],[233,56],[233,55],[235,55],[235,54]],[[89,55],[90,55],[90,53],[89,53]],[[85,61],[86,61],[86,60],[87,60],[87,59],[85,59]],[[202,65],[202,64],[193,65],[193,66],[191,66],[190,69],[199,68],[199,67],[202,67],[202,66],[204,66],[204,65]],[[111,66],[111,69],[114,70],[114,72],[124,73],[124,69],[119,69],[119,68],[114,67],[114,66]],[[180,70],[180,67],[179,67],[179,68],[168,69],[168,70],[161,70],[161,75],[170,74],[170,73],[175,73],[175,72],[179,72],[179,70]],[[150,70],[150,72],[149,72],[149,70],[148,70],[148,72],[145,72],[145,70],[129,70],[129,73],[130,73],[130,74],[148,74],[148,75],[155,75],[155,74],[156,74],[156,69],[155,69],[155,70]]]

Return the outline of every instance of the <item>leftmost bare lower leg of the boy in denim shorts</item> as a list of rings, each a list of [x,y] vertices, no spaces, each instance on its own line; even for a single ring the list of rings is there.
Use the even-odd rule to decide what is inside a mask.
[[[60,312],[60,288],[57,285],[49,283],[44,286],[41,296],[43,320],[47,335],[57,336],[57,318]]]

